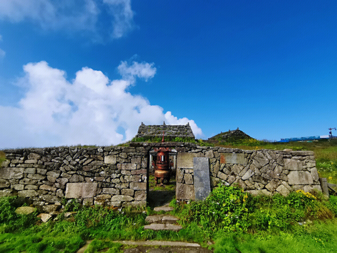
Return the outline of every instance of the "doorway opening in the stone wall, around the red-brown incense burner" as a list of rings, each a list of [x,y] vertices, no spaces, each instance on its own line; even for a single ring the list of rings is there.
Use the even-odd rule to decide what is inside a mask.
[[[170,203],[176,197],[176,170],[177,170],[177,150],[172,149],[168,155],[169,169],[171,172],[170,180],[167,183],[164,180],[163,186],[160,186],[160,180],[156,183],[154,171],[157,162],[157,151],[150,150],[149,163],[149,195],[148,203],[150,207],[162,206]]]

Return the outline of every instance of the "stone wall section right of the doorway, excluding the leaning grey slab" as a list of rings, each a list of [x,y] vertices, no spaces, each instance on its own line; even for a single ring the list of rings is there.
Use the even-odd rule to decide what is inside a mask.
[[[194,199],[193,157],[209,158],[211,188],[222,181],[252,194],[321,191],[314,152],[196,146],[178,152],[177,199]]]

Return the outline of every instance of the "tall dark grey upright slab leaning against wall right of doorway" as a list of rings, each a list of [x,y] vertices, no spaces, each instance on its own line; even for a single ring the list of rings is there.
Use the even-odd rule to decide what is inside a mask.
[[[194,157],[193,172],[195,201],[204,200],[211,192],[209,158]]]

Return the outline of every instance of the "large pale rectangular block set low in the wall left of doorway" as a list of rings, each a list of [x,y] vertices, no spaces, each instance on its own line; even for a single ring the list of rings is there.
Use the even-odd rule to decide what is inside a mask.
[[[97,193],[97,183],[67,183],[65,198],[92,198]]]

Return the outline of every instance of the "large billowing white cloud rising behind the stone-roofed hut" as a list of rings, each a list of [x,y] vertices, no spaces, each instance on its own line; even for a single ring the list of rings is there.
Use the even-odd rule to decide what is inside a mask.
[[[132,66],[137,71],[120,80],[110,81],[102,72],[84,67],[68,81],[64,71],[45,61],[28,63],[18,81],[27,89],[25,96],[17,107],[0,106],[0,148],[117,144],[134,137],[141,122],[161,124],[163,120],[189,122],[194,134],[202,135],[193,120],[164,114],[160,106],[127,92],[135,76],[147,80],[156,73],[153,63],[133,62],[126,69]]]

